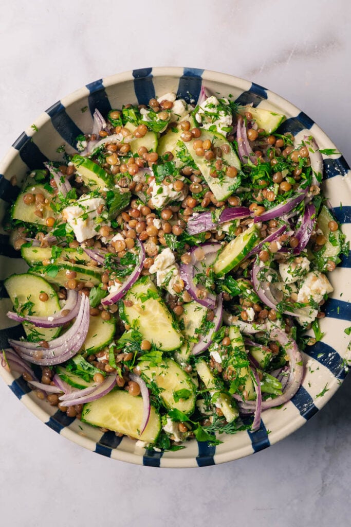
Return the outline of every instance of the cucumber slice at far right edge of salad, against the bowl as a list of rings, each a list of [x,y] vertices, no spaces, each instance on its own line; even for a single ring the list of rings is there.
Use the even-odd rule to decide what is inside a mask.
[[[342,251],[342,232],[340,231],[340,228],[338,228],[336,231],[331,231],[328,225],[329,221],[336,220],[330,210],[325,205],[323,205],[322,209],[320,209],[317,223],[319,229],[323,232],[327,241],[325,242],[322,249],[314,254],[318,262],[318,269],[321,271],[327,270],[327,261],[336,260]]]

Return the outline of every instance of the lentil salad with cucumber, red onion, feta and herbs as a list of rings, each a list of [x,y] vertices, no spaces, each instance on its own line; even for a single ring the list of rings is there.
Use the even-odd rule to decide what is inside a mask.
[[[218,444],[289,401],[348,250],[320,188],[327,152],[217,95],[96,110],[4,221],[28,270],[5,280],[23,336],[2,366],[148,448]]]

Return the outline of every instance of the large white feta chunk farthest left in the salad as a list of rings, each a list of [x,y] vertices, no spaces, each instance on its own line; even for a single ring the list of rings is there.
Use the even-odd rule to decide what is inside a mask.
[[[111,225],[108,221],[101,221],[101,214],[97,209],[105,205],[102,198],[91,198],[83,194],[74,205],[66,207],[62,211],[62,217],[72,227],[76,240],[80,242],[93,238],[97,235],[100,227]],[[98,221],[96,221],[98,219]]]

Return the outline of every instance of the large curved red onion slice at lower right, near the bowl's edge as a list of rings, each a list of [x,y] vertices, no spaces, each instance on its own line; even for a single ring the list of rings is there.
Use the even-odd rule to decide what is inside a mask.
[[[271,340],[279,342],[285,350],[285,354],[288,356],[289,361],[289,376],[285,389],[282,395],[275,397],[273,399],[267,399],[262,401],[262,409],[273,408],[274,406],[280,406],[287,401],[290,401],[292,397],[296,394],[297,390],[301,386],[304,367],[302,355],[299,352],[297,344],[294,339],[289,337],[284,331],[275,327],[269,334]],[[237,397],[235,397],[237,398]],[[244,411],[251,410],[254,411],[256,403],[254,401],[243,401],[239,403],[239,408]]]

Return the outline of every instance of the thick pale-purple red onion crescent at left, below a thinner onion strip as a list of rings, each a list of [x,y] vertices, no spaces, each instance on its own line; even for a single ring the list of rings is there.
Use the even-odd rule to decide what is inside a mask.
[[[48,348],[37,343],[9,339],[22,358],[33,364],[52,366],[61,364],[76,355],[81,350],[89,329],[89,299],[79,296],[81,304],[75,323],[63,335],[48,342]]]

